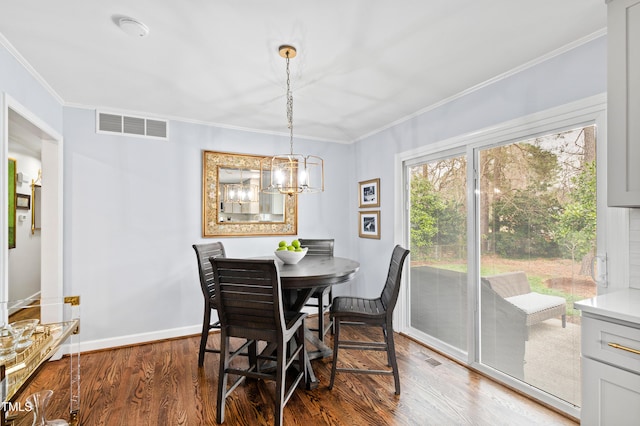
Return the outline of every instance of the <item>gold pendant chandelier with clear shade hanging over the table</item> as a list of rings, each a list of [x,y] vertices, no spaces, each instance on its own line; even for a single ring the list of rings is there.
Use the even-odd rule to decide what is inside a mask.
[[[293,96],[289,60],[297,51],[293,46],[279,47],[280,56],[287,60],[287,126],[289,153],[263,158],[260,161],[260,188],[267,194],[295,195],[324,191],[324,161],[315,155],[293,153]]]

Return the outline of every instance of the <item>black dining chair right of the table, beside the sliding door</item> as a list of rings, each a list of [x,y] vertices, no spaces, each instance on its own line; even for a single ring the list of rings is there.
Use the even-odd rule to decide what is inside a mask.
[[[400,374],[396,361],[396,350],[393,341],[393,310],[400,293],[402,281],[402,267],[409,254],[409,250],[397,245],[391,254],[391,263],[387,280],[380,297],[365,299],[361,297],[342,297],[333,299],[331,318],[334,324],[333,336],[333,365],[331,366],[331,382],[329,389],[333,389],[336,371],[354,374],[384,374],[393,375],[396,395],[400,395]],[[384,341],[374,340],[341,340],[340,326],[342,323],[352,326],[382,327]],[[338,368],[338,351],[340,349],[386,351],[387,364],[391,371],[369,368]]]

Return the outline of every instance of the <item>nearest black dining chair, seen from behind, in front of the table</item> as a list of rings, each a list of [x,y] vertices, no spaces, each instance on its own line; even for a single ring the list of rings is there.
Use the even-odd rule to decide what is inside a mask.
[[[275,380],[275,425],[281,425],[283,409],[298,384],[307,376],[304,319],[302,312],[285,312],[278,267],[273,259],[211,258],[216,301],[222,333],[216,420],[224,422],[227,396],[247,377]],[[249,366],[231,366],[240,349],[229,353],[229,339],[239,337],[254,342],[249,346]],[[261,369],[257,341],[275,344],[275,371]],[[269,346],[269,345],[268,345]],[[297,362],[296,362],[297,361]],[[287,371],[297,375],[287,388]],[[239,376],[227,387],[229,375]]]

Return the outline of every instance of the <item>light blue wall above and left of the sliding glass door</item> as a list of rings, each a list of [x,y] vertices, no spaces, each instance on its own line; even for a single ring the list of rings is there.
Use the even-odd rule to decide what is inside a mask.
[[[396,154],[606,92],[606,37],[498,80],[356,144],[356,180],[381,179],[381,234],[358,240],[361,263],[356,290],[372,296],[386,276],[395,241]]]

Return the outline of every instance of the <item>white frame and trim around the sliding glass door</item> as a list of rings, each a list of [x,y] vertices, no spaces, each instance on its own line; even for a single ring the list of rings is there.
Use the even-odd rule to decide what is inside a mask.
[[[607,127],[606,127],[606,96],[596,95],[580,101],[572,102],[560,107],[552,108],[530,116],[521,117],[500,125],[447,139],[403,153],[395,158],[395,214],[400,220],[396,222],[395,240],[401,244],[409,244],[409,180],[408,167],[435,158],[442,158],[444,153],[466,152],[467,155],[467,206],[473,215],[467,217],[468,244],[468,297],[469,306],[473,312],[468,318],[468,353],[448,353],[447,348],[438,347],[433,342],[425,343],[445,355],[456,359],[470,368],[484,375],[495,378],[506,385],[528,394],[541,402],[560,411],[579,418],[579,408],[542,392],[524,382],[515,380],[499,371],[480,363],[479,349],[479,288],[480,276],[480,244],[479,244],[479,214],[478,214],[478,176],[477,168],[481,149],[500,146],[510,142],[517,142],[531,137],[549,134],[578,126],[596,125],[597,128],[597,248],[598,255],[606,255],[608,264],[608,285],[599,286],[598,293],[606,293],[616,288],[629,286],[629,212],[628,209],[609,208],[606,204],[606,165],[607,165]],[[409,268],[410,269],[410,268]],[[396,330],[408,336],[421,340],[416,330],[410,327],[410,307],[408,298],[408,283],[410,271],[406,274],[402,287],[396,316],[394,318]]]

